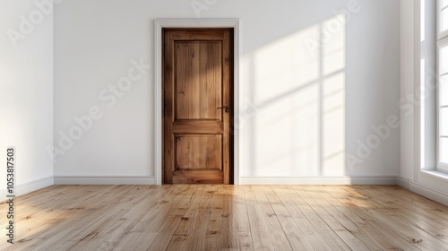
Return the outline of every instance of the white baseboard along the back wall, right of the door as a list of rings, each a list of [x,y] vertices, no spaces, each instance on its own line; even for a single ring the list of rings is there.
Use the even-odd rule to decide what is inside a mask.
[[[397,185],[397,177],[240,177],[240,185]]]

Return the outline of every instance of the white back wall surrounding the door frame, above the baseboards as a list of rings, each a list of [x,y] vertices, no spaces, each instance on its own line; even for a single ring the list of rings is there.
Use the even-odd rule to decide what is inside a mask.
[[[132,60],[153,65],[155,18],[198,18],[191,4],[198,2],[57,6],[56,177],[154,175],[152,68],[115,103],[99,96],[109,95]],[[200,18],[243,23],[243,177],[399,176],[400,129],[382,126],[400,117],[398,0],[206,2],[214,4]],[[338,15],[340,9],[351,12]],[[99,108],[99,119],[79,130],[73,117],[90,108]],[[384,139],[376,141],[373,125],[383,128]],[[70,132],[79,139],[61,136]]]

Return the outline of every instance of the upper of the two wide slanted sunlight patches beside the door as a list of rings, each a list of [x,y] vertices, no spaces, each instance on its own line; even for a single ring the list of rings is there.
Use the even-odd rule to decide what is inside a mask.
[[[276,40],[254,53],[254,101],[263,104],[318,80],[318,54],[305,46],[305,39],[318,41],[319,25]]]

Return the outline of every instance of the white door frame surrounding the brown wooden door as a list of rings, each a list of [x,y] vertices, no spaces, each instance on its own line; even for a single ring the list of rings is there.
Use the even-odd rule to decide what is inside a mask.
[[[241,75],[240,75],[240,61],[241,61],[241,21],[238,19],[156,19],[154,21],[154,167],[155,167],[155,181],[156,185],[162,185],[162,160],[163,160],[163,117],[162,117],[162,29],[163,28],[233,28],[233,181],[234,185],[239,185],[239,167],[240,167],[240,126],[237,125],[240,121],[240,97],[241,93]]]

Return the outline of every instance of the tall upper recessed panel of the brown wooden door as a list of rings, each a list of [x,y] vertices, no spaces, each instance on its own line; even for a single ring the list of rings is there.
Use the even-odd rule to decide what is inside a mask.
[[[175,41],[177,119],[222,118],[220,41]]]

